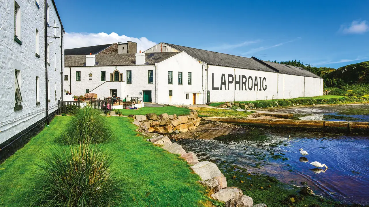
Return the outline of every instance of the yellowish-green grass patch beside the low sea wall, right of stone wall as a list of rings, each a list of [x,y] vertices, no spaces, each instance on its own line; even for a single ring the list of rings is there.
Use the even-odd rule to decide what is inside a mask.
[[[237,110],[227,110],[227,109],[214,109],[214,108],[197,108],[197,113],[200,117],[246,117],[252,112],[244,112]]]

